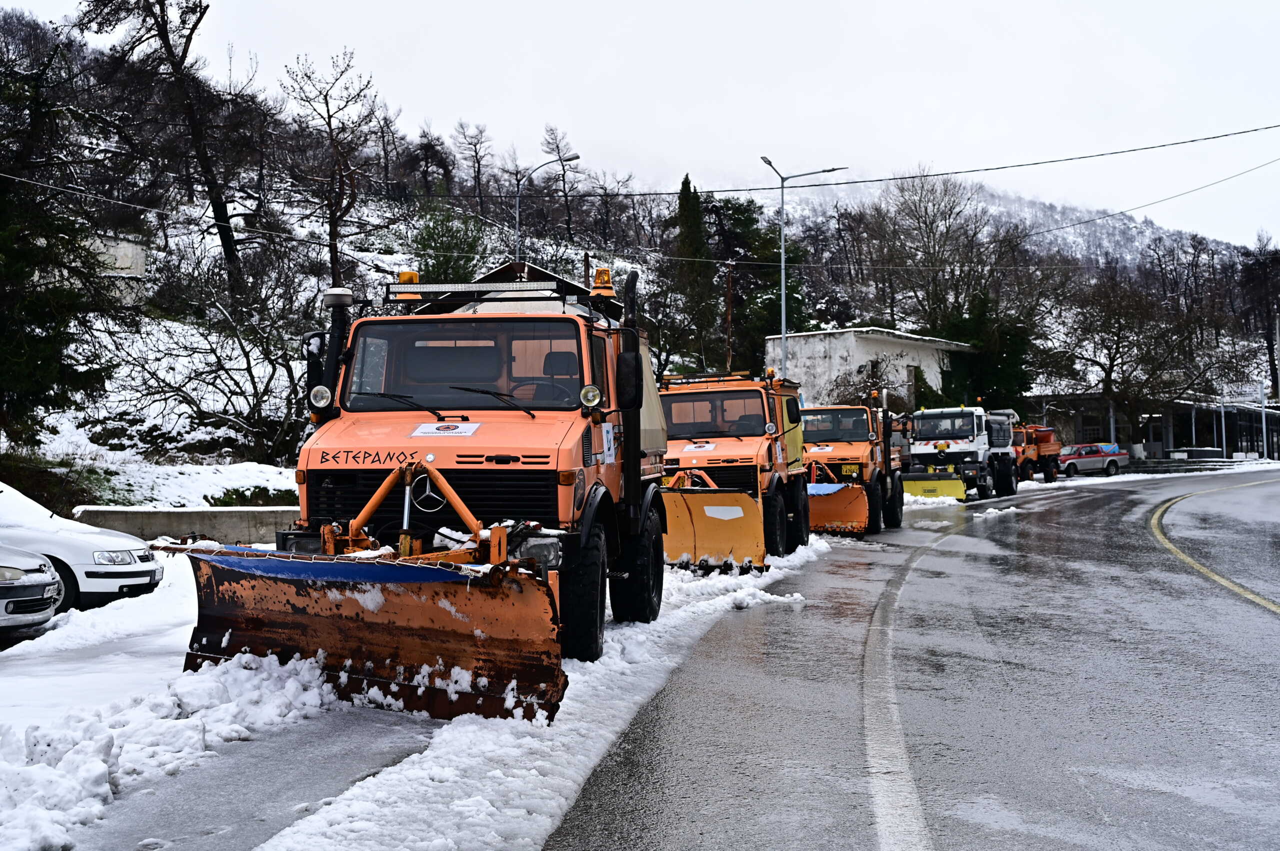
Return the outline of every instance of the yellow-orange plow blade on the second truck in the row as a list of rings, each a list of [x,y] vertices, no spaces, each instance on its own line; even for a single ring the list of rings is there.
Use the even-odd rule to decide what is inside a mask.
[[[755,498],[724,488],[664,488],[668,564],[764,567],[764,518]]]

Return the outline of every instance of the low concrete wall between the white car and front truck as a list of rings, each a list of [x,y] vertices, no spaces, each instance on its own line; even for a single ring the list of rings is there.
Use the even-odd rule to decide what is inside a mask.
[[[275,532],[293,526],[297,507],[265,508],[150,508],[137,505],[79,505],[76,520],[114,529],[142,540],[196,534],[223,544],[275,544]]]

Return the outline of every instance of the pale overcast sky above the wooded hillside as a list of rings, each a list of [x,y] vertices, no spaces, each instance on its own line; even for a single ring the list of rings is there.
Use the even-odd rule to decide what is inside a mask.
[[[18,4],[14,4],[18,5]],[[28,0],[60,19],[72,0]],[[1000,165],[1280,123],[1275,3],[215,0],[200,50],[225,78],[278,87],[300,52],[351,47],[411,134],[488,124],[535,164],[548,122],[582,165],[639,186],[760,186],[847,165],[881,177]],[[1280,131],[1101,161],[1019,169],[988,186],[1132,207],[1280,157]],[[1143,211],[1252,242],[1280,233],[1280,163]],[[762,196],[762,200],[765,200]],[[1142,214],[1139,214],[1142,215]]]

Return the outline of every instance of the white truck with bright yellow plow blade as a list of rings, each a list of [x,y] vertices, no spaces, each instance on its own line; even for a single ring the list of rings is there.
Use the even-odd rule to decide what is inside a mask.
[[[1018,493],[1012,411],[920,408],[911,415],[911,466],[902,484],[916,497],[978,499]]]

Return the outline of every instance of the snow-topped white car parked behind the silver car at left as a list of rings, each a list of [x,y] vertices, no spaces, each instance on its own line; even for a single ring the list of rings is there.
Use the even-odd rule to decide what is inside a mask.
[[[147,594],[164,577],[141,537],[59,517],[3,482],[0,544],[49,559],[61,580],[56,612]]]

